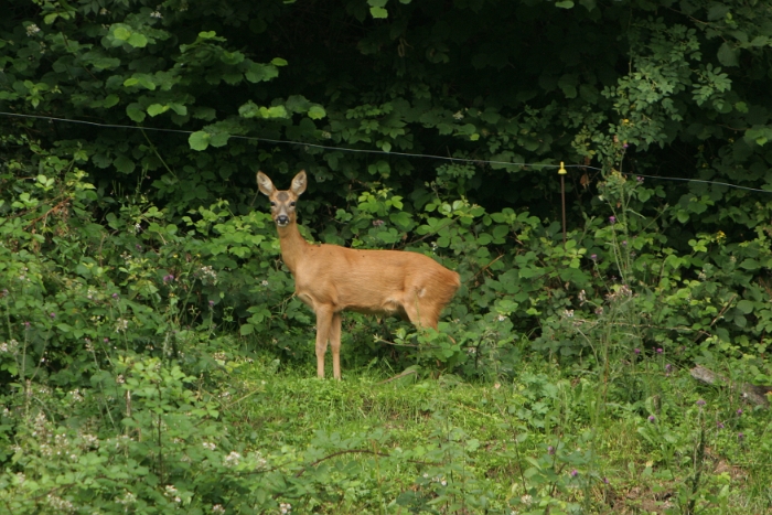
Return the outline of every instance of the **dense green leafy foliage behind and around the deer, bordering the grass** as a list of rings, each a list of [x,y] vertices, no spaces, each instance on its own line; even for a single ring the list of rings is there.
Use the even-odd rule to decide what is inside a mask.
[[[142,513],[204,502],[262,513],[311,468],[315,458],[298,465],[294,449],[265,461],[266,440],[246,433],[221,446],[238,454],[230,462],[202,448],[229,438],[216,399],[248,367],[237,356],[313,361],[313,316],[291,294],[258,170],[279,187],[309,172],[299,204],[309,238],[421,251],[461,273],[440,328],[453,340],[350,314],[344,371],[517,385],[529,356],[547,358],[593,385],[582,417],[636,417],[654,447],[678,438],[643,423],[667,408],[642,363],[772,384],[765,2],[8,0],[3,10],[0,491],[11,494],[0,500],[14,513],[67,502],[83,513],[136,502]],[[82,469],[46,464],[56,423],[74,438],[62,444],[79,449],[73,460],[87,457]],[[706,501],[696,472],[707,437],[685,431],[688,443],[657,459],[669,480],[674,457],[691,457],[678,506],[694,513],[697,498],[720,502]],[[755,444],[769,455],[769,437]],[[185,475],[185,463],[210,460],[224,478],[247,455],[239,466],[268,478],[259,487]],[[555,465],[549,455],[539,463]],[[127,486],[121,469],[152,481]],[[34,481],[19,479],[24,470]],[[46,483],[54,470],[61,484],[83,474],[94,486],[65,498]],[[182,476],[186,493],[164,490]],[[550,509],[550,489],[570,489],[545,478],[523,479],[516,497],[538,494]],[[308,501],[310,483],[298,485],[291,497]],[[411,509],[431,512],[435,494]]]

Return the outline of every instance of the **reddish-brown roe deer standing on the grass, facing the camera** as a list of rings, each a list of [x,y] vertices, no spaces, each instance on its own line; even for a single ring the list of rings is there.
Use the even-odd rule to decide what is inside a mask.
[[[310,244],[298,230],[296,203],[305,191],[301,171],[287,191],[257,173],[270,199],[281,257],[294,277],[294,293],[317,313],[317,374],[324,377],[324,353],[332,347],[332,372],[341,378],[341,311],[398,314],[416,326],[437,329],[442,308],[455,294],[459,275],[422,254],[358,250]]]

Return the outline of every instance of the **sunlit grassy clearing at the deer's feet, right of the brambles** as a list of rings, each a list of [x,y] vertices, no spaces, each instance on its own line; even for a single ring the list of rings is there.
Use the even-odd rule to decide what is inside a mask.
[[[772,513],[769,412],[732,417],[688,371],[612,378],[603,407],[598,380],[545,364],[510,384],[276,365],[244,367],[254,394],[225,416],[248,447],[318,450],[330,482],[293,513]]]

